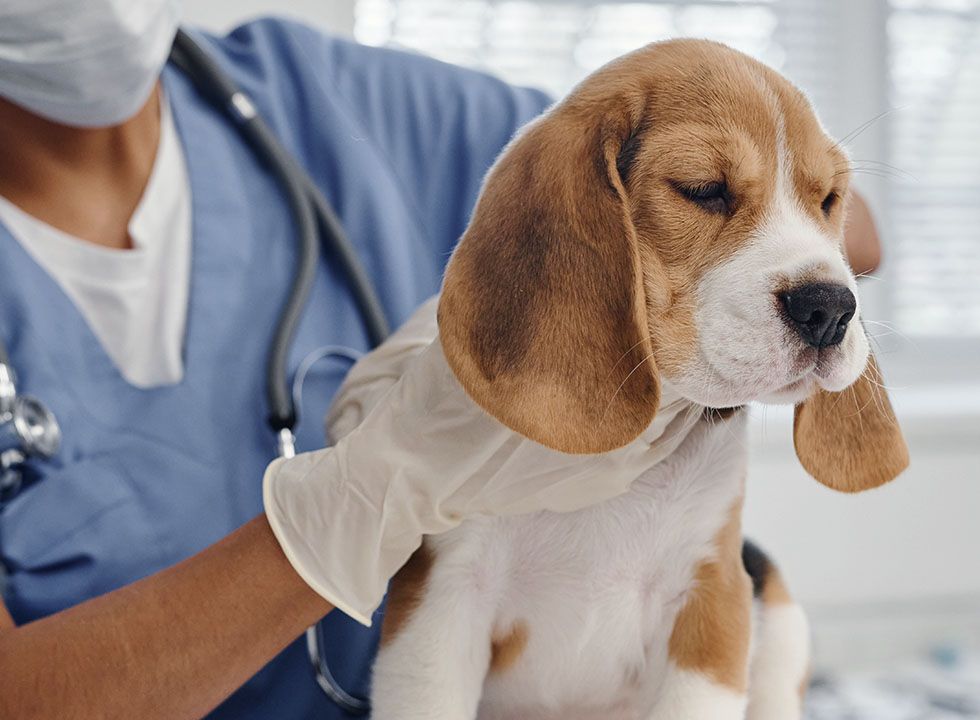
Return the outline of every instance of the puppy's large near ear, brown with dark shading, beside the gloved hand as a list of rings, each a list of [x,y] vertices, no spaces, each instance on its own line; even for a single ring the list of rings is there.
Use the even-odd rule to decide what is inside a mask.
[[[660,398],[624,177],[625,110],[558,106],[487,177],[443,283],[439,333],[470,396],[568,453],[629,443]]]

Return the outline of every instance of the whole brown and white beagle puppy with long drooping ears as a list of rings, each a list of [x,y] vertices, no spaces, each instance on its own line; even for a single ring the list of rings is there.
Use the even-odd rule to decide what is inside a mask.
[[[427,537],[391,584],[375,720],[800,717],[807,623],[743,544],[742,408],[795,404],[836,490],[908,463],[842,254],[848,168],[785,78],[694,40],[513,140],[439,301],[463,387],[565,453],[633,441],[668,399],[697,418],[625,495]]]

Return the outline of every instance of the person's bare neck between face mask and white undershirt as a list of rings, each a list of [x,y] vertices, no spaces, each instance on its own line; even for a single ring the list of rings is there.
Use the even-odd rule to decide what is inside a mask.
[[[0,98],[0,195],[39,220],[97,245],[132,247],[129,221],[160,141],[160,90],[107,128],[51,122]]]

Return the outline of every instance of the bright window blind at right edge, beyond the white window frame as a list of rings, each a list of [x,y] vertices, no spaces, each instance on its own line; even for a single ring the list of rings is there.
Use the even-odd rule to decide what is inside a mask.
[[[980,336],[980,1],[890,4],[895,319]]]

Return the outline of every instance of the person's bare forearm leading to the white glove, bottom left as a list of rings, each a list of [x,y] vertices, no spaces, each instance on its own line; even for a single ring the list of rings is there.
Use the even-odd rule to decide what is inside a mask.
[[[0,717],[199,718],[330,610],[264,517],[189,560],[4,629]]]

